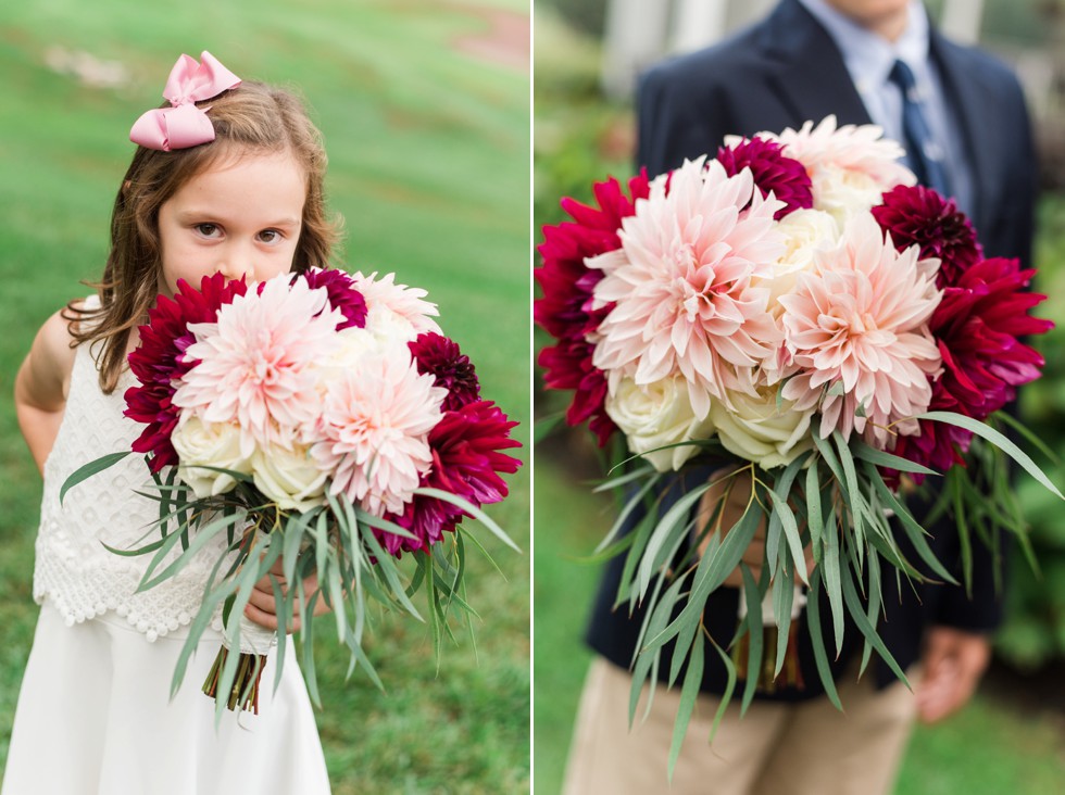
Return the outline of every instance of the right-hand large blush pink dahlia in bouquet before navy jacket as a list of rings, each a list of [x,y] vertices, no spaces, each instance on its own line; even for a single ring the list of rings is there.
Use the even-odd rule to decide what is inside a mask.
[[[785,307],[785,384],[795,409],[820,406],[819,433],[865,433],[879,449],[914,433],[931,400],[940,354],[928,320],[940,301],[935,273],[917,249],[899,253],[872,216],[854,216],[840,244],[818,252]],[[901,420],[901,421],[900,421]],[[892,426],[889,429],[889,426]]]

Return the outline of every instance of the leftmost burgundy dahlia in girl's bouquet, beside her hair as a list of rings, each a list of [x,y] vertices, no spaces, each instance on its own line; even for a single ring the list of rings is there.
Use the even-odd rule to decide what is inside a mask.
[[[126,390],[124,414],[147,426],[133,450],[151,455],[151,471],[177,464],[177,453],[171,444],[180,414],[172,402],[177,391],[174,382],[197,364],[185,356],[186,349],[195,342],[189,324],[213,323],[218,308],[235,295],[243,295],[247,289],[243,279],[226,281],[222,274],[204,276],[199,290],[179,279],[177,294],[173,299],[160,295],[148,311],[148,324],[138,329],[140,342],[129,354],[129,369],[140,386]]]

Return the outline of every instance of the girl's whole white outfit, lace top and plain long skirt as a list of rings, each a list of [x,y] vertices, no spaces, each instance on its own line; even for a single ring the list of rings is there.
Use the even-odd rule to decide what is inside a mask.
[[[216,620],[170,698],[211,551],[180,576],[135,593],[150,556],[122,557],[103,543],[139,546],[158,516],[156,503],[134,493],[150,482],[143,459],[130,455],[59,503],[71,472],[128,450],[139,433],[141,426],[122,416],[133,382],[126,371],[118,388],[103,394],[88,345],[78,348],[66,412],[45,465],[34,572],[41,611],[2,795],[328,793],[292,644],[276,692],[271,656],[259,715],[227,711],[216,729],[214,703],[200,692],[221,644]]]

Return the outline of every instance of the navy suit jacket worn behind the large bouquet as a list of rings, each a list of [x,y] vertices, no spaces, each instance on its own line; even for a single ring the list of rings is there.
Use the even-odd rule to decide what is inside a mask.
[[[1036,161],[1028,113],[1016,77],[989,54],[960,47],[931,29],[930,54],[942,76],[948,111],[963,130],[975,185],[976,226],[987,256],[1031,258]],[[752,136],[781,131],[803,122],[819,122],[835,114],[840,124],[869,124],[864,104],[851,81],[831,37],[798,0],[782,0],[763,22],[706,50],[663,62],[640,80],[638,98],[638,164],[650,175],[679,166],[685,159],[713,155],[726,135]],[[705,482],[707,468],[680,474],[667,502]],[[630,523],[635,525],[638,517]],[[937,557],[957,566],[957,533],[952,527],[931,528]],[[902,593],[893,577],[885,577],[885,613],[879,631],[897,661],[905,668],[919,655],[926,627],[950,626],[988,631],[1001,620],[1001,594],[992,581],[990,554],[974,544],[973,597],[962,588],[942,584],[911,586]],[[907,555],[911,561],[917,558]],[[613,662],[632,661],[641,611],[612,609],[623,558],[607,564],[593,608],[587,639]],[[822,600],[827,610],[827,600]],[[725,645],[736,629],[738,592],[721,589],[711,596],[704,620],[711,635]],[[804,623],[804,622],[803,622]],[[831,627],[829,614],[822,621]],[[802,691],[778,690],[773,697],[793,701],[823,691],[813,662],[805,627],[800,632],[800,660],[805,680]],[[830,632],[829,632],[830,634]],[[861,635],[848,624],[843,653],[834,662],[837,673],[861,648]],[[660,672],[669,670],[672,646],[664,649]],[[721,693],[725,669],[706,649],[703,690]],[[874,655],[876,657],[876,655]],[[877,661],[877,681],[893,674]]]

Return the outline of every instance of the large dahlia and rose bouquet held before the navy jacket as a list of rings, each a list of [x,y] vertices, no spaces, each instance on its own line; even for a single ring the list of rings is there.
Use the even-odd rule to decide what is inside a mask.
[[[1015,425],[999,409],[1043,364],[1023,341],[1051,327],[1028,314],[1044,298],[1024,289],[1035,272],[986,258],[954,201],[916,186],[877,127],[828,117],[725,143],[627,190],[600,182],[598,206],[563,200],[573,220],[544,228],[536,274],[535,316],[556,339],[539,356],[546,384],[573,390],[571,425],[587,422],[600,445],[619,431],[637,457],[603,485],[629,496],[600,551],[627,550],[617,605],[648,607],[632,709],[665,643],[671,685],[687,665],[671,769],[702,678],[706,598],[760,526],[761,577],[741,567],[739,654],[717,648],[730,681],[741,668],[746,709],[760,680],[789,670],[809,600],[818,674],[839,706],[818,598],[837,653],[849,615],[863,667],[875,648],[905,679],[876,629],[885,565],[954,582],[900,489],[949,472],[939,509],[985,537],[1020,527],[1003,454],[1061,496],[995,427]],[[964,466],[968,453],[983,466]],[[747,490],[738,521],[721,506],[692,518],[710,483],[656,509],[669,472],[699,454],[740,462],[744,478],[728,487]],[[647,518],[618,540],[641,502]],[[763,623],[778,624],[768,643]]]

